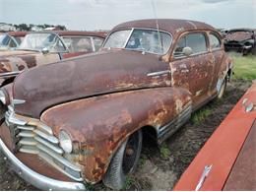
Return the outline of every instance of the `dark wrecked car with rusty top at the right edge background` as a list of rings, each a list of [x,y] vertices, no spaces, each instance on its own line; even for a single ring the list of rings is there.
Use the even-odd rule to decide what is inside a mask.
[[[236,29],[226,32],[224,36],[225,51],[237,51],[246,55],[256,54],[256,30]]]

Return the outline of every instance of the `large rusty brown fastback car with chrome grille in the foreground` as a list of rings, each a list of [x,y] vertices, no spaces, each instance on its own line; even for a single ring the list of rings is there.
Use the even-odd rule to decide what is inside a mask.
[[[1,89],[0,149],[32,185],[120,189],[142,139],[160,144],[222,97],[231,74],[221,34],[194,21],[115,27],[99,52],[24,72]],[[158,26],[158,27],[157,27]]]

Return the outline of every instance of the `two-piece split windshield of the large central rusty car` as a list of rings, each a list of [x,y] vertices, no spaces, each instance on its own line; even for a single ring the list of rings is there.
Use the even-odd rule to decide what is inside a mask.
[[[130,33],[132,34],[130,35]],[[129,39],[128,39],[129,38]],[[105,48],[126,48],[155,54],[164,54],[171,44],[171,36],[154,30],[125,30],[113,32],[107,38]]]

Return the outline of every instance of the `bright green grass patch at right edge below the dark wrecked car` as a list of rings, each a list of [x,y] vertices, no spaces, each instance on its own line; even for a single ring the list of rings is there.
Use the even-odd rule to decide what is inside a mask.
[[[247,81],[256,79],[256,56],[231,55],[231,58],[233,60],[233,79]]]

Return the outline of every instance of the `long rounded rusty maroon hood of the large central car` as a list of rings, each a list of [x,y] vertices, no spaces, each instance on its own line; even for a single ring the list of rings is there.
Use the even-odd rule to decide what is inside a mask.
[[[33,68],[14,83],[14,98],[26,100],[17,113],[39,118],[43,110],[71,100],[170,85],[169,70],[154,54],[110,50]]]

